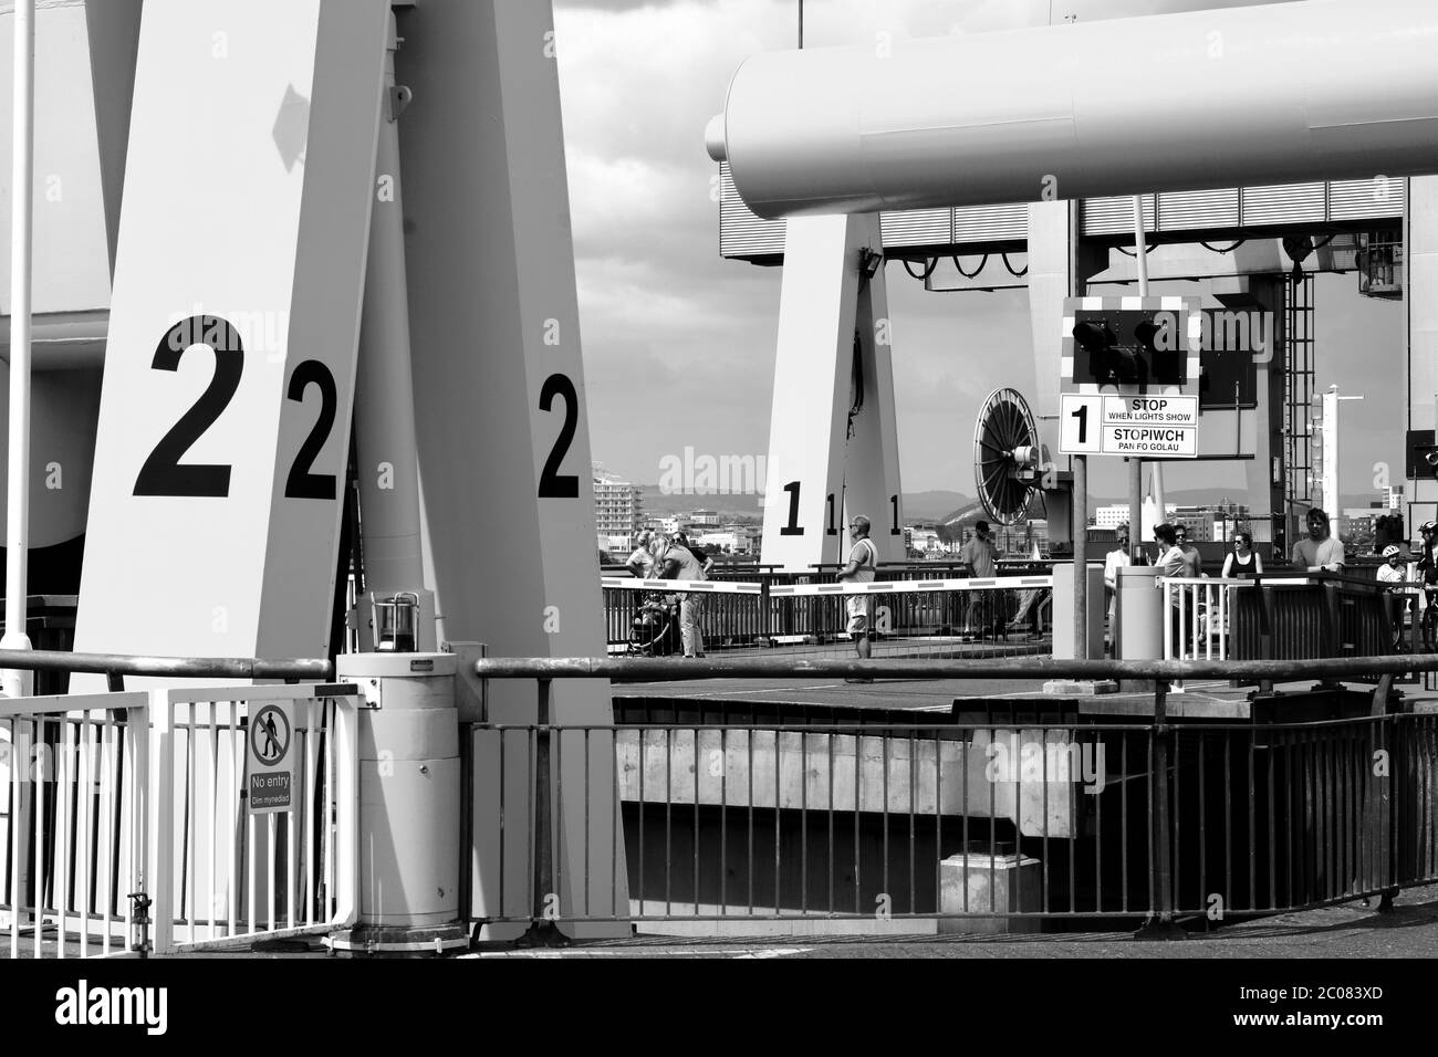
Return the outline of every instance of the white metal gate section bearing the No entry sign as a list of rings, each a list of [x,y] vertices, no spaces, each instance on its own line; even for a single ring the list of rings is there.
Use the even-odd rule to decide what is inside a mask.
[[[358,913],[358,690],[298,685],[155,690],[151,897],[161,953],[324,933]],[[246,738],[290,726],[288,807],[260,811]],[[168,795],[160,795],[158,791]]]

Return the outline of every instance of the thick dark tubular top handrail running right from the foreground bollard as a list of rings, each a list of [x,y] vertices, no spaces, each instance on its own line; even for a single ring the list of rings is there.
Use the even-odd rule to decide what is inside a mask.
[[[475,663],[480,679],[611,679],[680,682],[696,679],[795,679],[870,676],[876,679],[1336,679],[1346,674],[1438,672],[1435,654],[1324,657],[1319,660],[710,660],[605,657],[486,657]]]

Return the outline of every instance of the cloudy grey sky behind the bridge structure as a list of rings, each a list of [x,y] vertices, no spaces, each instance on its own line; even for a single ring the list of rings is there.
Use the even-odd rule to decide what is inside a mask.
[[[1017,6],[808,0],[805,46],[988,27]],[[703,129],[748,55],[794,47],[797,3],[555,0],[555,32],[594,457],[654,483],[660,459],[686,446],[762,454],[781,273],[719,256]],[[905,490],[972,495],[979,403],[1031,385],[1027,292],[926,293],[897,263],[887,280]],[[1317,293],[1317,383],[1366,397],[1343,408],[1346,495],[1369,490],[1376,462],[1402,476],[1402,309],[1356,289],[1353,275],[1324,276]],[[1094,492],[1122,495],[1122,463],[1093,462]],[[1168,480],[1241,489],[1242,476],[1191,465]]]

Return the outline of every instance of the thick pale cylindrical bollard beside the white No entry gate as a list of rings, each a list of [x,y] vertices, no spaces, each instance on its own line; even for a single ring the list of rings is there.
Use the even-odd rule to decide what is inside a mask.
[[[339,679],[360,712],[360,916],[331,936],[348,955],[469,945],[459,915],[459,712],[450,653],[354,653]]]

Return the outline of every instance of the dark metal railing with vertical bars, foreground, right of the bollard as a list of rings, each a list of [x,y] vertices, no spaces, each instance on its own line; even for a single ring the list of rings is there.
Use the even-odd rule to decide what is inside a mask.
[[[1123,919],[1160,928],[1183,916],[1391,899],[1438,880],[1438,715],[1396,710],[1386,683],[1329,692],[1326,715],[1339,718],[1322,722],[1257,709],[1175,720],[1166,695],[1175,679],[1391,677],[1415,664],[1435,670],[1438,656],[723,659],[682,666],[682,677],[1117,677],[1156,680],[1158,690],[1153,715],[1136,718],[1025,700],[989,702],[984,716],[956,702],[953,715],[912,723],[889,712],[881,723],[758,725],[729,703],[723,722],[559,726],[548,716],[554,679],[623,683],[672,666],[482,660],[482,679],[536,680],[541,722],[470,729],[498,758],[493,824],[506,830],[499,847],[510,857],[480,920],[823,919],[871,930],[912,919],[985,930]],[[613,794],[597,794],[594,768],[608,761]],[[582,830],[562,807],[575,797],[585,801]]]

